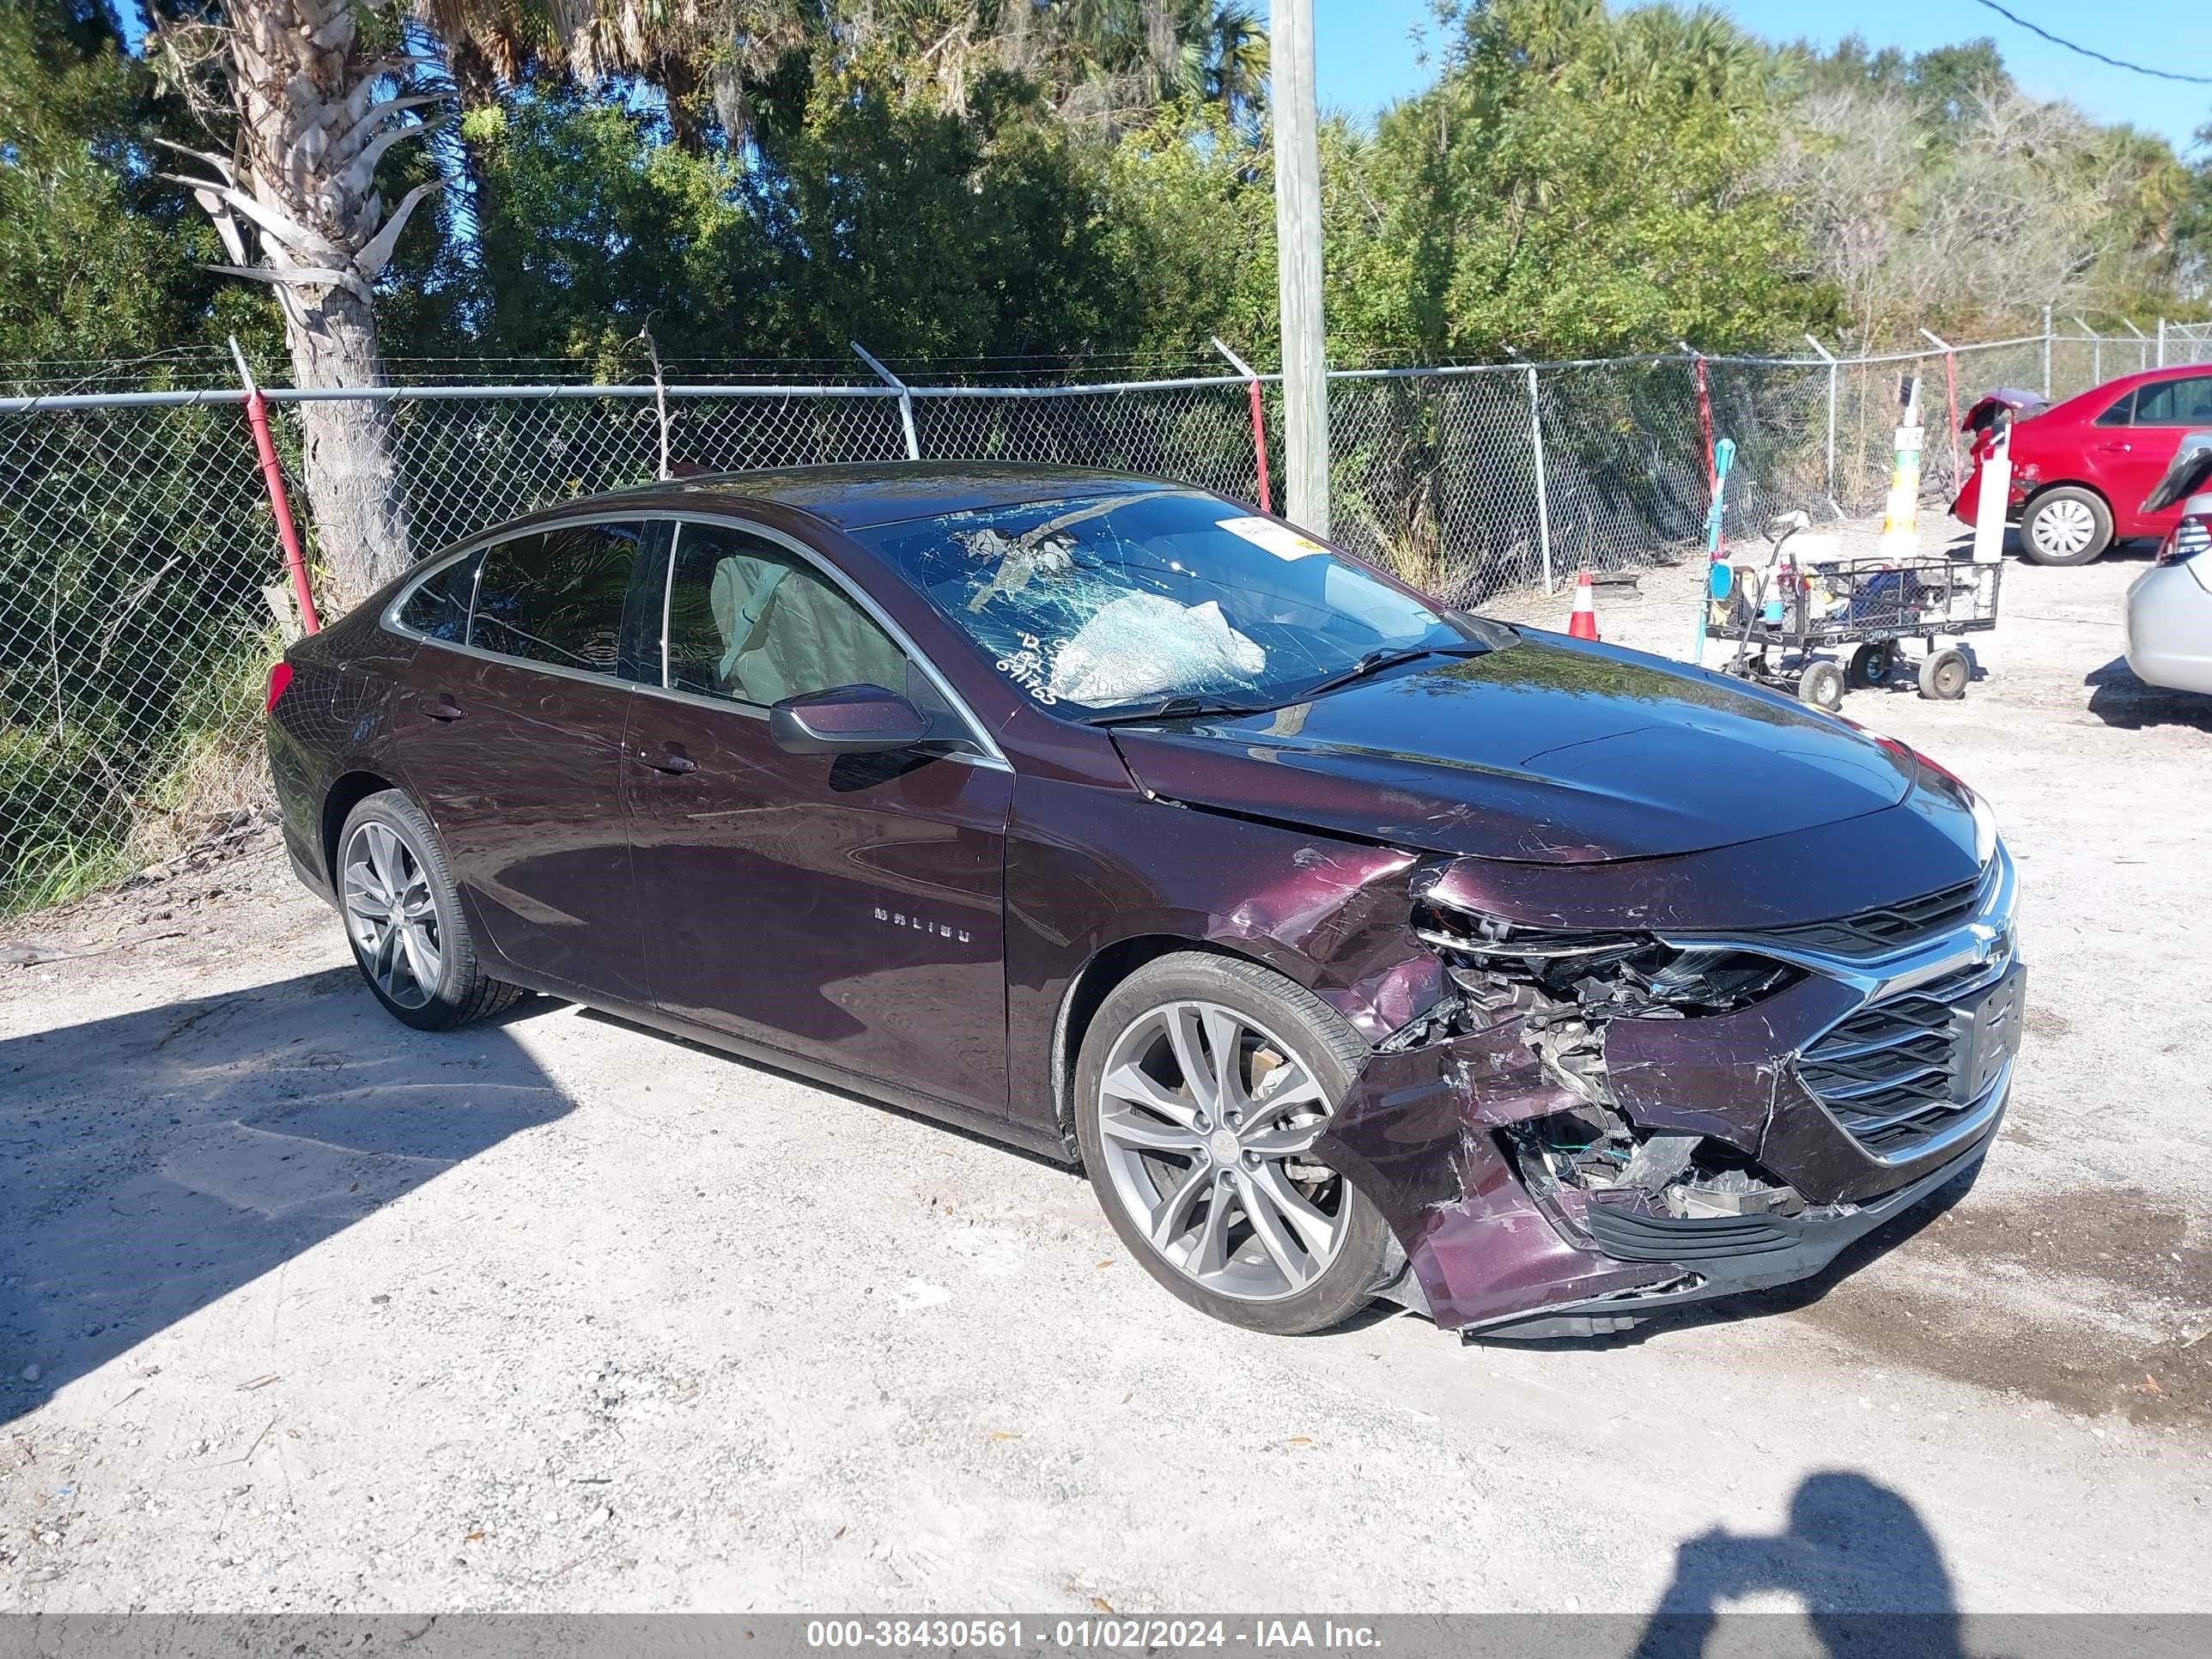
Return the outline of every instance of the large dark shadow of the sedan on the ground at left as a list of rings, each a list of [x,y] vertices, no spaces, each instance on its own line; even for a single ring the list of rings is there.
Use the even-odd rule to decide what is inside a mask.
[[[0,1422],[564,1115],[531,1009],[409,1031],[345,967],[0,1042]]]

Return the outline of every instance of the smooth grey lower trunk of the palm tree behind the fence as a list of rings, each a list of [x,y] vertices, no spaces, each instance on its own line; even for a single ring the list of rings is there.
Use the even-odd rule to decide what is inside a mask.
[[[294,319],[292,310],[301,316]],[[292,376],[301,387],[376,387],[376,319],[343,288],[288,307]],[[392,456],[392,405],[380,398],[301,403],[307,502],[332,608],[347,611],[414,562],[407,502]]]

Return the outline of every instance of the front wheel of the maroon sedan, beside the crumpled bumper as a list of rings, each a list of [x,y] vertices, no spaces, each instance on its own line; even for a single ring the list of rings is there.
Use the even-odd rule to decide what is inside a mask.
[[[1075,1135],[1152,1279],[1276,1336],[1367,1305],[1383,1217],[1312,1157],[1367,1055],[1334,1009],[1256,962],[1175,953],[1115,987],[1084,1035]]]

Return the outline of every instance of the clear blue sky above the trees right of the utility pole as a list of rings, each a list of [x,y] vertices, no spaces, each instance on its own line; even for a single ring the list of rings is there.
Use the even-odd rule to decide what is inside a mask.
[[[1688,4],[1690,0],[1681,0]],[[2008,11],[2112,58],[2212,75],[2212,4],[2205,0],[2006,0]],[[1973,0],[1721,0],[1739,24],[1767,40],[1801,35],[1829,46],[1860,33],[1907,53],[1989,35],[2013,77],[2037,97],[2066,97],[2099,122],[2132,122],[2185,148],[2212,122],[2212,86],[2183,86],[2106,69],[2051,46]],[[1429,22],[1427,0],[1314,0],[1314,77],[1321,102],[1374,115],[1425,86],[1409,31]],[[1431,29],[1433,33],[1433,29]]]

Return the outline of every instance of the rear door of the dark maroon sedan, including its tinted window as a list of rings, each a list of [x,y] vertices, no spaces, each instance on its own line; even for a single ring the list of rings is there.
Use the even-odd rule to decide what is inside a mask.
[[[465,637],[453,593],[467,577]],[[420,646],[396,677],[405,785],[438,825],[478,929],[515,969],[644,1006],[644,929],[622,807],[622,743],[661,568],[644,524],[575,522],[507,538],[416,591]],[[626,611],[637,599],[626,635]],[[657,655],[657,653],[655,653]],[[650,670],[657,677],[657,666]]]

